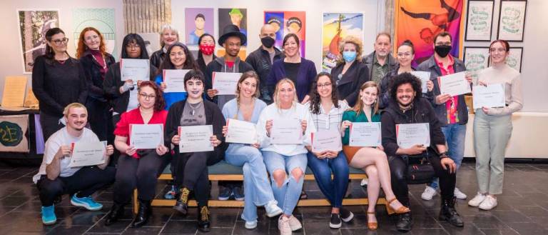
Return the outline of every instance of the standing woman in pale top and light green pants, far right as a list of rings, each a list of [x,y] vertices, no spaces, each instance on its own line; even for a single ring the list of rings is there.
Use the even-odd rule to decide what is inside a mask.
[[[502,194],[504,179],[504,151],[512,134],[512,113],[523,107],[521,74],[506,64],[510,46],[507,41],[496,40],[489,46],[492,66],[480,71],[480,85],[504,85],[506,106],[500,108],[477,107],[474,119],[474,149],[477,195],[468,205],[490,210],[497,206],[497,194]]]

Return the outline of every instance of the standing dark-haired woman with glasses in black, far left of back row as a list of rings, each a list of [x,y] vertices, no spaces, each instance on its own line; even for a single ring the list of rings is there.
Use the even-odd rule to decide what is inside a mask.
[[[46,54],[36,57],[32,68],[32,89],[40,103],[40,125],[46,140],[64,126],[64,107],[84,104],[88,96],[83,67],[66,53],[67,42],[63,30],[49,29]]]

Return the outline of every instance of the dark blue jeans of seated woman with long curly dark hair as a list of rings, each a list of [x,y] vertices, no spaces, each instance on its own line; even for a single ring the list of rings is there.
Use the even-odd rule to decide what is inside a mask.
[[[348,163],[345,154],[340,151],[334,159],[318,159],[310,152],[306,156],[308,166],[312,169],[323,195],[328,198],[331,206],[340,208],[348,186]],[[333,172],[333,180],[331,172]]]

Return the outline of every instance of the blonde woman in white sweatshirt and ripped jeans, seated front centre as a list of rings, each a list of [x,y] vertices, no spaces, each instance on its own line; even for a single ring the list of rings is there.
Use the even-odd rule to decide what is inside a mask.
[[[291,234],[303,227],[293,216],[293,209],[303,189],[308,153],[305,146],[310,145],[310,134],[315,132],[315,127],[310,111],[297,101],[293,81],[278,81],[273,94],[274,103],[260,113],[257,132],[274,198],[283,209],[278,229],[280,234]],[[278,139],[292,144],[275,144]],[[288,175],[289,179],[286,179]]]

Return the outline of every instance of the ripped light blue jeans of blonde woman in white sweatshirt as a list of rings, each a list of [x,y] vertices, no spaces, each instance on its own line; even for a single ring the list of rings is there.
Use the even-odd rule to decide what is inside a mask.
[[[272,181],[272,191],[274,198],[278,201],[278,206],[283,210],[283,214],[293,214],[293,209],[297,206],[300,197],[300,191],[303,190],[304,172],[306,171],[306,154],[297,154],[293,156],[284,156],[275,151],[263,151],[266,168]],[[293,169],[299,168],[303,171],[303,176],[296,180],[291,174]],[[282,186],[278,188],[274,180],[273,172],[283,170],[289,174]]]

